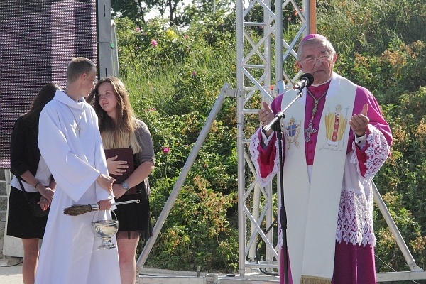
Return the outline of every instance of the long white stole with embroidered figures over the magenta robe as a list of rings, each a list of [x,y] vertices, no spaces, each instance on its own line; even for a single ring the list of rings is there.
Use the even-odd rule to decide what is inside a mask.
[[[295,284],[329,283],[332,280],[337,214],[350,130],[348,121],[354,109],[355,93],[355,84],[333,73],[324,111],[317,113],[321,115],[321,121],[319,127],[315,126],[318,138],[311,182],[305,157],[306,89],[281,120],[285,137],[283,178],[288,251]],[[287,107],[296,94],[293,90],[286,92],[281,109]],[[327,138],[327,133],[333,133],[333,129],[326,131],[326,121],[338,116],[340,111],[341,126],[334,131],[339,135],[334,139]],[[335,123],[327,124],[334,127]],[[346,126],[342,128],[342,124]]]

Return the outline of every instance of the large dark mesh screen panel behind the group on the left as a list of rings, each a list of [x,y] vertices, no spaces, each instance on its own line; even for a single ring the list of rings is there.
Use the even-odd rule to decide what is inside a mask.
[[[97,65],[96,0],[0,1],[0,168],[10,168],[13,124],[50,82],[65,88],[71,58]]]

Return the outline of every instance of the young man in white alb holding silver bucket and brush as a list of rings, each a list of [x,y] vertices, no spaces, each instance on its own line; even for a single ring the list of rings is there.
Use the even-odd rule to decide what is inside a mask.
[[[99,212],[111,217],[114,179],[108,175],[97,115],[84,101],[95,77],[92,61],[73,58],[65,91],[56,92],[40,114],[38,147],[58,185],[35,284],[120,283],[117,249],[97,249],[101,239],[91,228],[97,213],[63,213],[73,204],[99,204]]]

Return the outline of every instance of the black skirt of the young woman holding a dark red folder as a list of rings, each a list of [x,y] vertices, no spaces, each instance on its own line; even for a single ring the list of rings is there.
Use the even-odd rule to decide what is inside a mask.
[[[116,202],[140,200],[139,203],[118,205],[114,210],[119,220],[119,232],[128,232],[129,239],[133,239],[135,232],[142,240],[149,239],[153,234],[149,198],[143,183],[137,186],[136,195],[122,195],[116,199]]]

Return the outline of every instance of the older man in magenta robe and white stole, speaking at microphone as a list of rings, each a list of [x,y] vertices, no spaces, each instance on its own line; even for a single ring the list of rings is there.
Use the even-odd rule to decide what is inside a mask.
[[[333,72],[336,59],[323,35],[301,40],[297,66],[314,81],[281,119],[288,284],[376,284],[371,182],[390,154],[391,129],[371,92]],[[271,107],[263,102],[261,124],[297,92],[280,94]],[[276,133],[257,129],[250,152],[258,181],[267,185],[280,170]]]

